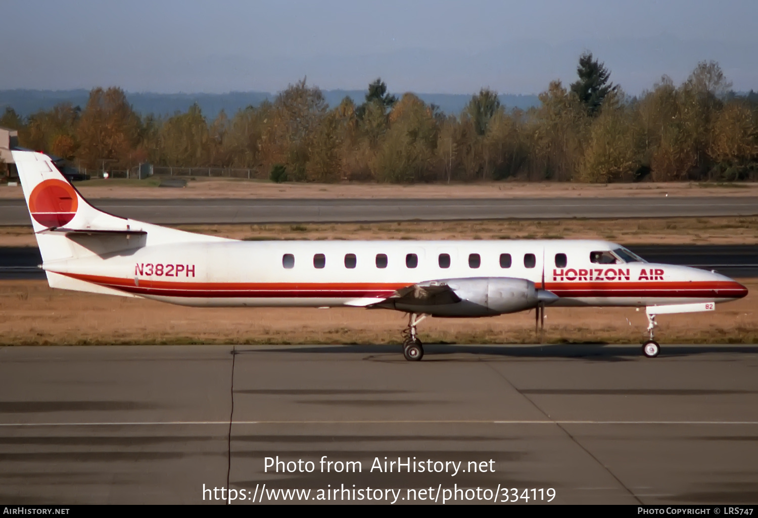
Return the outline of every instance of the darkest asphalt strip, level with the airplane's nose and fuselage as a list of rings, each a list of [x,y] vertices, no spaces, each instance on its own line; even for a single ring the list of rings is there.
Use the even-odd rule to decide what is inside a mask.
[[[631,245],[631,251],[652,263],[684,264],[717,270],[726,276],[758,276],[758,245]],[[37,268],[39,249],[0,247],[0,279],[44,279]]]

